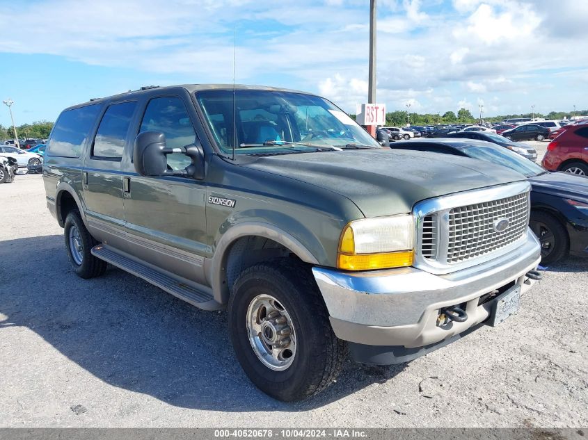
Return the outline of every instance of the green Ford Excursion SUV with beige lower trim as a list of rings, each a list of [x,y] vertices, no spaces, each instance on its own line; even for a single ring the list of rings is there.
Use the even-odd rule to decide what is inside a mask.
[[[59,116],[43,177],[77,275],[110,263],[228,309],[237,359],[280,400],[325,389],[348,351],[398,364],[497,325],[541,278],[523,176],[383,148],[303,92],[94,99]]]

